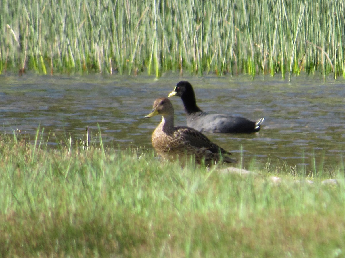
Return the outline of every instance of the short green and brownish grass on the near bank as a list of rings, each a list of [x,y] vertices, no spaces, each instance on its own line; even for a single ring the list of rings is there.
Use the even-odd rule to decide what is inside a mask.
[[[345,189],[0,140],[0,256],[337,257]]]

